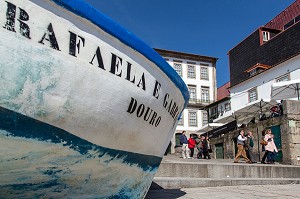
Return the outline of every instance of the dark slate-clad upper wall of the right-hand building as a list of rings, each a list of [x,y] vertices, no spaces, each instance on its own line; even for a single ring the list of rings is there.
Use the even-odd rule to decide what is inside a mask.
[[[260,43],[260,32],[260,29],[256,30],[229,51],[230,82],[232,86],[249,79],[249,74],[244,71],[257,63],[277,67],[278,64],[299,55],[299,22],[262,45]]]

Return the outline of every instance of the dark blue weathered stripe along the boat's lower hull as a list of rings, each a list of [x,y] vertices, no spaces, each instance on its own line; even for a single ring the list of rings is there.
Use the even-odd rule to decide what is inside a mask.
[[[137,164],[144,171],[157,169],[162,158],[151,155],[109,149],[95,145],[77,137],[63,129],[0,107],[0,129],[10,133],[10,136],[36,139],[51,143],[63,143],[64,146],[87,154],[90,150],[99,151],[99,158],[109,155],[122,159],[128,164]],[[105,129],[103,129],[105,131]],[[109,133],[109,132],[107,132]]]

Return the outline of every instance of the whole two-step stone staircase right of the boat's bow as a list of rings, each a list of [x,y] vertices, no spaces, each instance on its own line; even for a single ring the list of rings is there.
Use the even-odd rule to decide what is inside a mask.
[[[165,156],[150,189],[299,183],[300,166]]]

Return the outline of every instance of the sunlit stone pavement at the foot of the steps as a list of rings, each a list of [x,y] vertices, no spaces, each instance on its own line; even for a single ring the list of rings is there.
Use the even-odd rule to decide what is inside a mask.
[[[146,199],[299,199],[300,184],[149,190]]]

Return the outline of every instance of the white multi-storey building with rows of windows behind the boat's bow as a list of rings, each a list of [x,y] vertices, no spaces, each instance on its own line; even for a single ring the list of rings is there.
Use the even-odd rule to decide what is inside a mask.
[[[171,140],[169,153],[180,147],[179,137],[186,131],[187,137],[208,123],[208,115],[203,107],[216,100],[217,58],[169,50],[155,49],[175,69],[186,83],[190,100],[178,122]]]

